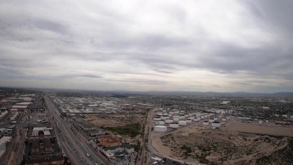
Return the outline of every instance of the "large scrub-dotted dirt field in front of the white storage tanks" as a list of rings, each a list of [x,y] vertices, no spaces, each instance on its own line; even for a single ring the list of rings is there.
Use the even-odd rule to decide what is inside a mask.
[[[287,137],[239,133],[204,126],[187,127],[174,134],[152,139],[152,146],[159,153],[176,159],[193,158],[204,164],[219,165],[250,165],[287,144]]]

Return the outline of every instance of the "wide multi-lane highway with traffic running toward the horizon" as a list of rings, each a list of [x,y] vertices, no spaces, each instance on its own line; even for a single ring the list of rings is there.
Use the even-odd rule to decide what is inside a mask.
[[[54,121],[56,128],[56,136],[59,140],[61,148],[73,165],[100,165],[108,161],[97,151],[95,151],[79,132],[70,128],[69,124],[61,117],[60,112],[56,109],[48,96],[44,96],[47,110]],[[58,128],[57,128],[58,127]],[[59,132],[60,130],[60,132]],[[90,156],[87,157],[86,154]]]

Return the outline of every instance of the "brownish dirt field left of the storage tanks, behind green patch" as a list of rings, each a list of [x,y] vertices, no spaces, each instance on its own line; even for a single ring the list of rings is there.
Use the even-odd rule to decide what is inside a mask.
[[[132,123],[146,123],[143,114],[87,114],[85,120],[97,127],[117,127]]]

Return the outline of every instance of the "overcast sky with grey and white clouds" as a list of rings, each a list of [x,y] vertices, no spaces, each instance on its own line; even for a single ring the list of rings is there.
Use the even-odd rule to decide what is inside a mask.
[[[293,0],[1,0],[0,86],[293,92]]]

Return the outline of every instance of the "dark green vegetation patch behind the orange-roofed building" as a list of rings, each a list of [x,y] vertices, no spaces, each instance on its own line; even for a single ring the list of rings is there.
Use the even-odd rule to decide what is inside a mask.
[[[141,125],[139,123],[135,123],[119,127],[104,127],[104,129],[111,132],[115,132],[119,135],[135,137],[140,134]]]

